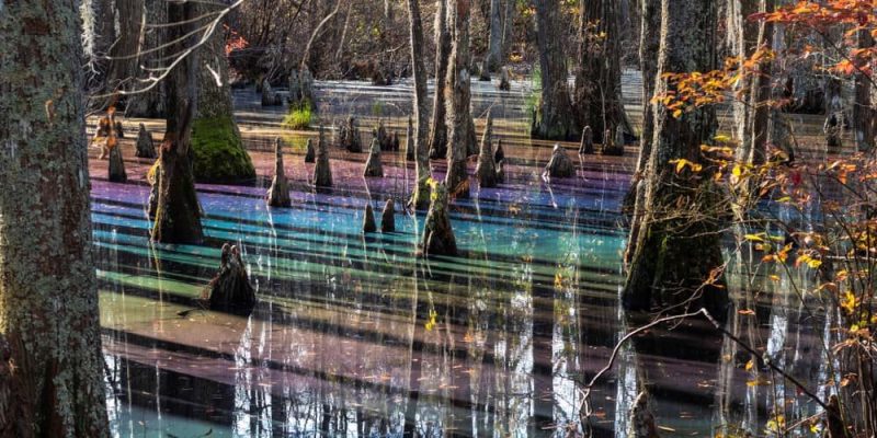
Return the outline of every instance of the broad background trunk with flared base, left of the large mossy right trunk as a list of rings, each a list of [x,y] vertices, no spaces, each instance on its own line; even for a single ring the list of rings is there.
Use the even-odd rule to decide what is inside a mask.
[[[579,124],[590,126],[594,141],[603,132],[623,126],[633,132],[622,102],[620,11],[617,0],[582,1],[580,9],[579,72],[576,76],[576,106]],[[648,1],[646,2],[648,3]],[[643,5],[646,8],[647,5]],[[654,32],[653,28],[647,34]],[[653,35],[643,35],[643,37]],[[652,53],[653,54],[653,53]],[[648,80],[643,71],[643,83]]]

